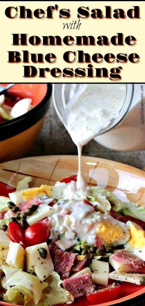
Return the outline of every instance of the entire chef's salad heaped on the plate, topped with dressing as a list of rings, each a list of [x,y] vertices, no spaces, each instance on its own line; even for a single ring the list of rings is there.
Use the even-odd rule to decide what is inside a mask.
[[[91,304],[145,285],[145,208],[76,176],[55,186],[20,181],[0,196],[0,300],[26,306]],[[107,299],[107,300],[106,300]]]

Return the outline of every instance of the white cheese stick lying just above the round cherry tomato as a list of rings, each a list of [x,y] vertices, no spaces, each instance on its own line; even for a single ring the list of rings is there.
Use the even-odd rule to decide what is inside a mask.
[[[53,214],[53,207],[49,205],[40,204],[35,211],[35,213],[29,217],[27,217],[27,222],[29,225],[32,225],[36,222],[41,221],[42,219],[46,218],[47,216]]]

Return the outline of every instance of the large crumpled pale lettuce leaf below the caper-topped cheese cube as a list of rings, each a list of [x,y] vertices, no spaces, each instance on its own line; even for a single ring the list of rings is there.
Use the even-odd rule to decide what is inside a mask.
[[[47,287],[47,283],[41,282],[40,279],[33,274],[29,274],[12,267],[2,265],[2,271],[6,276],[5,289],[9,290],[9,287],[22,286],[25,289],[29,289],[33,293],[33,302],[37,304],[41,298],[43,289]],[[16,287],[15,287],[16,288]],[[16,292],[15,292],[16,294]],[[17,293],[18,294],[18,293]]]

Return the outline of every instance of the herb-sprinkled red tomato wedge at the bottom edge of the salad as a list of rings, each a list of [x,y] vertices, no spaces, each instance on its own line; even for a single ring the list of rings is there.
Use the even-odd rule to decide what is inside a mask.
[[[119,294],[121,292],[121,285],[117,284],[115,286],[106,286],[102,289],[94,291],[92,293],[88,293],[86,295],[87,300],[91,304],[101,304],[116,300],[119,298]]]

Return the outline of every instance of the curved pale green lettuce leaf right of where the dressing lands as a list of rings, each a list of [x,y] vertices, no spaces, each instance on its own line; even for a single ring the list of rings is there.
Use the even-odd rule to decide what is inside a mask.
[[[107,189],[104,189],[104,188],[101,188],[101,187],[98,187],[98,186],[97,187],[90,187],[90,191],[91,191],[92,196],[94,196],[95,198],[97,198],[97,194],[101,194],[102,196],[105,196],[106,199],[109,202],[114,204],[113,207],[112,207],[114,211],[117,212],[117,211],[120,211],[121,209],[124,208],[123,202],[121,200],[119,200],[117,198],[117,196],[115,196],[111,191],[109,191]],[[99,202],[99,197],[98,197],[97,201]],[[103,204],[102,204],[102,206],[103,206]]]

